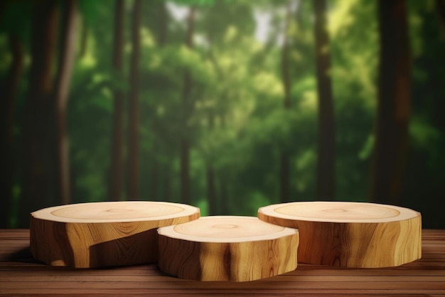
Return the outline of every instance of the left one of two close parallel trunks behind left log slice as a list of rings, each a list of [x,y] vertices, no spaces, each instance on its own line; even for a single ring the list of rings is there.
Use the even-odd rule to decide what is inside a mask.
[[[116,80],[123,80],[124,52],[124,0],[117,0],[114,6],[114,41],[113,60]],[[111,156],[111,178],[109,183],[109,199],[119,201],[122,198],[122,144],[123,144],[123,114],[124,114],[124,93],[119,87],[114,88],[113,107],[113,134],[112,134],[112,156]]]

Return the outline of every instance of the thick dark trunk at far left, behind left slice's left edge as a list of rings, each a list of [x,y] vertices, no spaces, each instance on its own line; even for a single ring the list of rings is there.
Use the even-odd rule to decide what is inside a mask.
[[[33,11],[31,40],[32,64],[28,98],[23,122],[23,192],[19,209],[19,227],[28,227],[29,213],[45,205],[47,196],[48,118],[53,90],[52,69],[57,36],[56,1],[37,1]],[[49,133],[50,134],[50,133]]]

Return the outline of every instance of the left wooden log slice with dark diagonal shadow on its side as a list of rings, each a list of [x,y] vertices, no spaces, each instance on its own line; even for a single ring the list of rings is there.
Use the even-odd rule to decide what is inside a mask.
[[[52,266],[122,266],[156,261],[156,229],[198,219],[200,211],[169,202],[92,202],[31,213],[30,249]]]

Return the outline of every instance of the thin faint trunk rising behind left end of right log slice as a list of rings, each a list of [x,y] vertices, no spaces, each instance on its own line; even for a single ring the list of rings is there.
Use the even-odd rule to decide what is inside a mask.
[[[284,109],[291,108],[291,78],[289,74],[289,24],[291,22],[291,2],[286,5],[286,20],[283,31],[282,46],[282,82],[284,90]],[[282,148],[280,157],[279,197],[281,202],[289,202],[289,149]]]

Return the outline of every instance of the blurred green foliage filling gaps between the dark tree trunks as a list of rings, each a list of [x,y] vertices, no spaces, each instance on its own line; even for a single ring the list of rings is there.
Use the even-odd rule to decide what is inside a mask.
[[[284,109],[282,43],[287,1],[175,0],[195,6],[193,48],[186,21],[168,1],[143,2],[139,63],[140,199],[180,202],[180,140],[191,142],[193,203],[208,214],[206,168],[215,172],[218,212],[255,215],[279,202],[279,157],[289,152],[290,193],[295,201],[316,192],[318,105],[311,1],[294,5],[289,24],[291,107]],[[29,1],[9,1],[0,20],[0,71],[11,64],[9,34],[25,45],[31,31]],[[293,2],[292,2],[293,3]],[[445,168],[445,41],[433,1],[409,3],[412,42],[412,120],[406,202],[422,212],[443,192]],[[107,200],[114,113],[112,90],[125,94],[124,160],[127,160],[131,1],[126,2],[124,75],[112,69],[114,1],[79,1],[87,48],[75,63],[68,105],[73,202]],[[379,36],[376,1],[329,1],[331,71],[336,120],[336,199],[366,201],[370,183],[377,98]],[[166,19],[161,14],[166,9]],[[255,38],[255,14],[269,16],[269,33]],[[164,27],[163,21],[168,26]],[[163,30],[166,29],[166,32]],[[161,43],[162,34],[165,41]],[[28,63],[26,64],[28,66]],[[27,71],[27,70],[26,70]],[[191,73],[188,122],[183,87]],[[20,137],[19,87],[15,137]],[[125,167],[124,167],[125,168]],[[125,169],[126,170],[126,169]],[[123,180],[127,172],[122,172]],[[15,192],[20,192],[20,180]],[[125,192],[125,190],[123,190]],[[124,194],[124,193],[123,193]],[[18,197],[18,194],[16,194]],[[15,205],[18,199],[14,200]],[[424,206],[424,204],[428,206]],[[13,219],[14,220],[14,219]],[[426,226],[439,226],[427,219]],[[428,225],[429,224],[429,225]],[[443,224],[441,225],[443,226]]]

